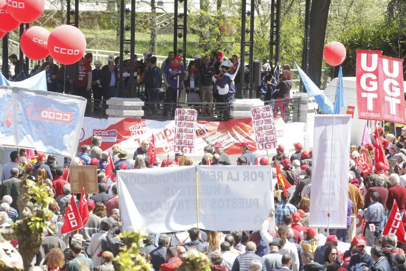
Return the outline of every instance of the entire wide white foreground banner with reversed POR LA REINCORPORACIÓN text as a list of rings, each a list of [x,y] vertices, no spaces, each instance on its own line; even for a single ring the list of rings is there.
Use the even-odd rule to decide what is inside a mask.
[[[195,166],[121,170],[117,179],[124,229],[173,232],[198,221],[202,229],[254,230],[273,206],[266,166],[198,166],[197,182]]]

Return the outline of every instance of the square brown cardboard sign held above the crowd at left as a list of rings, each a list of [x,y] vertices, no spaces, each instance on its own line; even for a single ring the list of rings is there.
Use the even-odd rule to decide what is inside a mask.
[[[82,193],[85,188],[87,193],[97,194],[97,166],[69,166],[71,178],[71,192]]]

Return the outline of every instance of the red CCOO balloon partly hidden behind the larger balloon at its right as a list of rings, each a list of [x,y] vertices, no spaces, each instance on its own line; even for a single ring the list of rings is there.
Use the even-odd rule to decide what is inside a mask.
[[[20,38],[23,53],[32,60],[41,60],[49,55],[49,31],[41,26],[32,26],[26,29]]]

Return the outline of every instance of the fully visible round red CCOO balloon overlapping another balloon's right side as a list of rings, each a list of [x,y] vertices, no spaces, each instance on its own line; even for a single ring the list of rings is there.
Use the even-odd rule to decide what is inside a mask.
[[[78,62],[85,50],[85,36],[75,26],[60,25],[49,35],[49,54],[61,64],[70,65]]]

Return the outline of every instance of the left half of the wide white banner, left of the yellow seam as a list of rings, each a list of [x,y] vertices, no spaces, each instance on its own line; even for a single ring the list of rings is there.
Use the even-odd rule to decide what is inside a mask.
[[[172,232],[196,227],[194,166],[119,170],[123,229]]]

